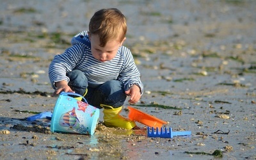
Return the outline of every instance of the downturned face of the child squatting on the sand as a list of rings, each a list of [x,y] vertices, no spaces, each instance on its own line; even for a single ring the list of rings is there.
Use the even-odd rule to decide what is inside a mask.
[[[115,58],[118,48],[123,44],[117,40],[109,40],[104,47],[100,47],[100,40],[98,35],[89,35],[92,47],[92,56],[101,61],[110,61]]]

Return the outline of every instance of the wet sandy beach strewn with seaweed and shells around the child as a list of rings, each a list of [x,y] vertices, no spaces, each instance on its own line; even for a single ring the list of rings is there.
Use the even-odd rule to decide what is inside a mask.
[[[216,159],[209,154],[220,150],[222,159],[256,159],[256,2],[104,2],[1,3],[0,158]],[[49,63],[95,10],[109,7],[127,17],[124,45],[145,85],[133,107],[191,136],[149,138],[140,123],[134,131],[99,124],[93,136],[52,134],[49,120],[26,120],[53,111]]]

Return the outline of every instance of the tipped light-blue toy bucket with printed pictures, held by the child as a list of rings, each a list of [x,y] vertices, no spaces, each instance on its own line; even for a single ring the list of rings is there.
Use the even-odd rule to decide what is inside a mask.
[[[55,104],[51,119],[51,132],[69,132],[93,135],[99,122],[100,111],[74,97],[77,93],[61,92]]]

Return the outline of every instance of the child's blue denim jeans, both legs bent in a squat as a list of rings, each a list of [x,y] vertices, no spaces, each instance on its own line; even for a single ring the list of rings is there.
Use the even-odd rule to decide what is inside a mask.
[[[126,95],[124,93],[124,84],[121,81],[111,80],[92,87],[88,84],[88,79],[81,70],[72,70],[67,73],[67,76],[70,79],[68,86],[74,92],[84,95],[86,88],[88,89],[84,98],[90,105],[97,108],[101,108],[100,104],[106,104],[113,108],[119,108],[124,105]]]

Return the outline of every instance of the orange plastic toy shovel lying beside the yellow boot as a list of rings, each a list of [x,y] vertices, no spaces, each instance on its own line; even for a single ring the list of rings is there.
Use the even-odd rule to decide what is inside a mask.
[[[168,124],[167,122],[156,118],[155,116],[148,115],[138,109],[128,107],[129,109],[129,119],[141,124],[147,125],[148,127],[159,127],[161,128],[163,124]]]

